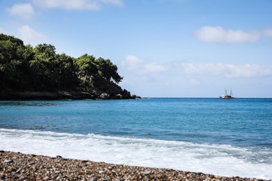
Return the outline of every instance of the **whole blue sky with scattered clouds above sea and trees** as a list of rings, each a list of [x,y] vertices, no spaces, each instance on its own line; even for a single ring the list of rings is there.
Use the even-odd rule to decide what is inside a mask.
[[[0,0],[0,33],[108,58],[142,97],[272,97],[271,0]]]

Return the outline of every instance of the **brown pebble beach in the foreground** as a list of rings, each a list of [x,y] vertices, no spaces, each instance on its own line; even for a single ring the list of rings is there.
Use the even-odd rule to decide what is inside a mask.
[[[262,180],[0,151],[0,180]]]

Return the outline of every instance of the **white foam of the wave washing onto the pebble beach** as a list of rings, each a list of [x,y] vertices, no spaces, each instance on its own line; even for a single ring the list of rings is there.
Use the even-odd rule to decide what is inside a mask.
[[[0,150],[174,168],[224,176],[272,179],[272,165],[251,163],[252,152],[231,145],[0,129]]]

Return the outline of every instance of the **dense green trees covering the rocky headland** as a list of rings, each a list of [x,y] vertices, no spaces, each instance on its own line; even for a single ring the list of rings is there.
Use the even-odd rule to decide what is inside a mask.
[[[0,91],[6,93],[84,93],[82,98],[130,99],[118,84],[123,77],[112,61],[84,54],[73,58],[56,54],[54,45],[24,45],[14,36],[0,34]],[[80,98],[80,97],[79,97]]]

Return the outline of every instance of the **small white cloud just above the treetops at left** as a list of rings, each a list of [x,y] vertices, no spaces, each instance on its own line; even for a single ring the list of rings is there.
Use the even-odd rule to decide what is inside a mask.
[[[18,29],[18,31],[22,37],[22,40],[24,40],[24,42],[26,43],[30,44],[40,43],[45,38],[45,35],[43,33],[39,33],[31,29],[27,25],[21,26]]]

